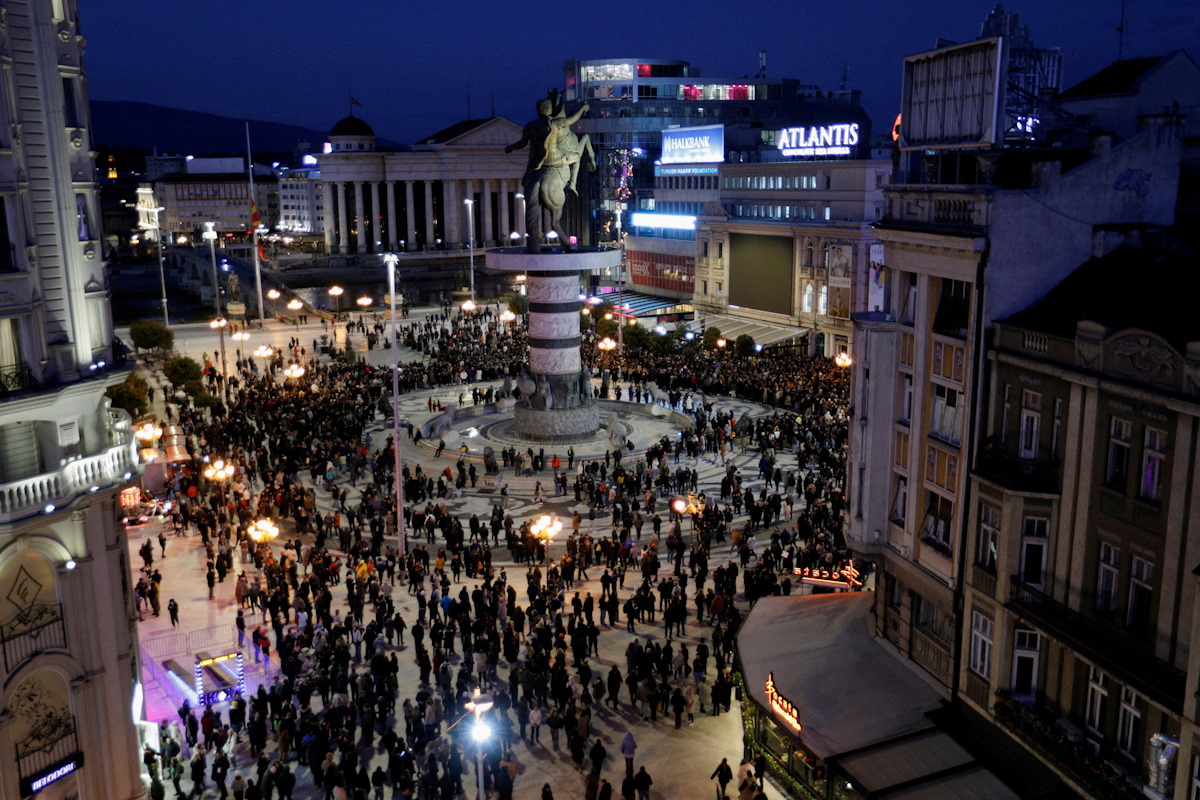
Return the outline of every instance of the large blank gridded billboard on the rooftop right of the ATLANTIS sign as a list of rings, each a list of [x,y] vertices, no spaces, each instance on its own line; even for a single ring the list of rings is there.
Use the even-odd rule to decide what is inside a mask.
[[[989,148],[1003,137],[1004,40],[910,55],[904,61],[902,150]]]

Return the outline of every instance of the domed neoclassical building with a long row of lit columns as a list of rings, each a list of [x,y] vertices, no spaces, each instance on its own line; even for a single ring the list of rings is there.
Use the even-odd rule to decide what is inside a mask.
[[[475,247],[522,239],[526,156],[504,152],[520,138],[520,126],[493,116],[452,125],[408,151],[382,150],[367,122],[338,121],[319,158],[326,251],[464,249],[469,223]]]

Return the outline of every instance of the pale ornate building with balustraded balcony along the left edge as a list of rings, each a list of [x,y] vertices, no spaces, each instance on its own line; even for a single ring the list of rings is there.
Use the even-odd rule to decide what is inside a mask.
[[[0,796],[137,798],[138,471],[73,0],[0,14]]]

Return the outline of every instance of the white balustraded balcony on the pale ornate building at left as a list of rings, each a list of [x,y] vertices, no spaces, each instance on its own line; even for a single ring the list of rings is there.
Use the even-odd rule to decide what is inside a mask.
[[[106,488],[138,471],[133,431],[125,411],[112,414],[113,444],[95,456],[66,462],[56,470],[11,483],[0,483],[0,524],[42,512],[49,505],[68,505],[92,487]]]

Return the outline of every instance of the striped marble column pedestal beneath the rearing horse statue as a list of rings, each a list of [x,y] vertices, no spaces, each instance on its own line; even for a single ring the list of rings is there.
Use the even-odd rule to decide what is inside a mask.
[[[493,270],[526,273],[529,293],[529,377],[535,391],[514,409],[517,432],[534,441],[570,441],[600,427],[590,371],[580,359],[580,275],[620,265],[620,251],[581,248],[486,253]]]

